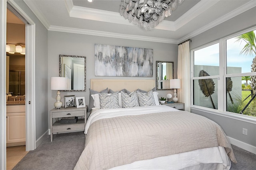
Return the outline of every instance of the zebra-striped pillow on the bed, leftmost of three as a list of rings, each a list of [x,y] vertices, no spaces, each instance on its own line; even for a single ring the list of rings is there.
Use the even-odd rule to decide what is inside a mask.
[[[99,93],[100,109],[117,109],[120,108],[118,104],[118,91],[111,95]]]

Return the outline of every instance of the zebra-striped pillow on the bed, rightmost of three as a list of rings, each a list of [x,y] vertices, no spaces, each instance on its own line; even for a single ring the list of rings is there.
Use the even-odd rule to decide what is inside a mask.
[[[137,90],[138,100],[140,106],[155,106],[156,102],[154,99],[153,91],[150,90],[148,93],[142,93]]]

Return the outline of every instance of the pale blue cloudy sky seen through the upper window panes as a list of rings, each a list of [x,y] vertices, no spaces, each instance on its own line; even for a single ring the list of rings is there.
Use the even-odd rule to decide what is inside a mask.
[[[256,31],[254,33],[256,34]],[[227,66],[242,67],[242,73],[251,72],[252,59],[255,56],[240,54],[246,42],[235,42],[236,40],[237,38],[227,40]],[[219,66],[219,44],[199,49],[195,51],[194,56],[195,65]]]

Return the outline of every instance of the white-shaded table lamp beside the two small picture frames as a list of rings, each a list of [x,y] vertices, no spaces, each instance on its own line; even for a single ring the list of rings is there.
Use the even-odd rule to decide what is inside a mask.
[[[58,90],[56,102],[54,103],[55,109],[62,108],[62,102],[60,97],[60,90],[67,89],[67,78],[66,77],[51,77],[51,90]]]

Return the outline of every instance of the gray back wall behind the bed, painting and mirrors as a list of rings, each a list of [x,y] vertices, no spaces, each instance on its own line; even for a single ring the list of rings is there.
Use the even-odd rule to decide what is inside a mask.
[[[140,47],[153,49],[153,77],[102,77],[94,73],[94,44],[120,45],[127,47]],[[89,104],[90,79],[156,79],[156,61],[174,61],[174,77],[177,77],[178,45],[170,43],[146,42],[138,40],[126,40],[120,38],[108,38],[101,36],[90,36],[84,34],[72,34],[65,32],[48,32],[48,79],[59,75],[59,55],[82,55],[86,56],[86,92],[61,92],[62,102],[64,95],[75,95],[85,97]],[[50,81],[48,82],[50,87]],[[56,101],[57,91],[48,90],[48,108],[52,109]],[[158,91],[159,97],[166,97],[173,91]]]

